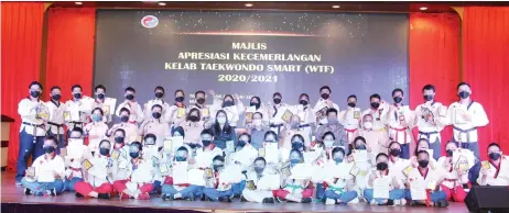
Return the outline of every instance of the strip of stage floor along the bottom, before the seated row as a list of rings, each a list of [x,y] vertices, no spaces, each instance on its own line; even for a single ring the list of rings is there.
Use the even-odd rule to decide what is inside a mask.
[[[35,197],[23,195],[23,188],[14,184],[14,172],[1,172],[1,203],[13,204],[51,204],[51,205],[85,205],[85,206],[115,206],[115,208],[142,208],[142,209],[170,209],[170,210],[193,210],[201,212],[405,212],[405,213],[429,213],[429,212],[468,212],[464,203],[451,203],[448,208],[410,208],[410,206],[371,206],[366,203],[353,205],[325,205],[323,203],[275,203],[261,204],[234,201],[231,203],[219,203],[208,201],[162,201],[160,198],[152,198],[148,201],[139,200],[97,200],[78,199],[74,193],[64,193],[58,197]],[[83,209],[84,206],[82,206]]]

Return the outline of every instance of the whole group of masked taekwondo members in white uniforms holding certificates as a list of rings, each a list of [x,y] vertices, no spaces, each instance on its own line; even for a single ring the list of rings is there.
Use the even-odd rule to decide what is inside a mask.
[[[426,85],[424,102],[414,110],[394,89],[393,103],[372,94],[370,108],[361,111],[356,96],[349,96],[340,111],[327,86],[314,107],[306,93],[295,105],[283,103],[277,92],[273,104],[252,97],[245,107],[238,96],[220,99],[214,91],[208,92],[212,104],[197,91],[196,103],[186,105],[182,90],[169,103],[160,86],[141,105],[129,87],[117,107],[104,86],[95,88],[95,98],[73,86],[73,99],[65,103],[61,88],[53,87],[51,100],[43,102],[43,87],[34,81],[19,103],[17,184],[25,194],[72,191],[99,199],[160,194],[165,201],[447,206],[463,202],[472,184],[509,186],[509,177],[498,176],[507,158],[498,144],[488,146],[489,160],[477,160],[476,127],[488,119],[470,100],[468,83],[457,90],[459,100],[448,108]],[[120,123],[112,124],[113,115]],[[446,125],[453,125],[454,135],[442,142]],[[28,167],[30,156],[34,160]]]

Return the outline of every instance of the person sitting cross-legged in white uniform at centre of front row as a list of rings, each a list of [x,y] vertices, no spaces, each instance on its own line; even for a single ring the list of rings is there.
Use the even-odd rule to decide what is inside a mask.
[[[247,175],[247,186],[242,191],[240,200],[257,203],[274,203],[272,191],[279,189],[279,172],[270,168],[263,157],[254,159],[253,165],[254,169]]]

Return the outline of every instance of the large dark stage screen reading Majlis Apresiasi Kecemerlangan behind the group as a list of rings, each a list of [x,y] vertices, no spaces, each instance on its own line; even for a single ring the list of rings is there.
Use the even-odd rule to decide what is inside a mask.
[[[94,85],[115,98],[130,86],[147,102],[161,85],[170,102],[176,89],[191,103],[213,89],[245,103],[278,91],[296,104],[327,85],[340,108],[357,94],[366,109],[372,93],[408,93],[408,14],[98,10],[96,19]]]

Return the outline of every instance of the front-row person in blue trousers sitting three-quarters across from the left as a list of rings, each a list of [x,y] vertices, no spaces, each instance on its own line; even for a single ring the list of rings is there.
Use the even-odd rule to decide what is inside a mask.
[[[389,156],[385,153],[380,153],[376,157],[377,168],[371,169],[368,175],[366,189],[364,190],[364,197],[371,205],[405,205],[407,200],[404,199],[403,184],[394,176],[399,172],[396,169],[389,169]],[[389,198],[373,198],[375,189],[373,182],[377,179],[387,178],[389,181]]]

